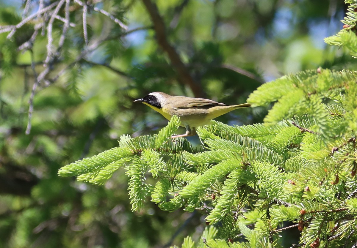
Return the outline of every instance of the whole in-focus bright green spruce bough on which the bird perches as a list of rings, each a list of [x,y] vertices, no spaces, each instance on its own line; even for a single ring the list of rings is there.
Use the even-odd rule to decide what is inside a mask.
[[[103,184],[125,167],[132,210],[150,197],[165,211],[200,210],[224,237],[206,228],[202,240],[209,247],[239,246],[241,239],[247,247],[273,247],[281,232],[295,227],[300,243],[292,247],[347,247],[356,239],[356,77],[322,68],[286,75],[249,98],[273,106],[265,123],[212,122],[197,129],[203,145],[194,149],[184,138],[169,138],[180,125],[172,117],[157,135],[121,136],[119,147],[59,173]],[[294,224],[278,228],[284,221]]]

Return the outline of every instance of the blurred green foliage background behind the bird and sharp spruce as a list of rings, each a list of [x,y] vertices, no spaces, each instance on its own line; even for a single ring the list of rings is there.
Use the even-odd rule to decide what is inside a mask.
[[[40,1],[26,2],[30,11],[25,16],[30,16]],[[0,1],[0,25],[21,22],[26,2],[19,8],[20,1]],[[59,56],[47,64],[50,72],[34,91],[29,135],[29,99],[36,77],[45,70],[49,16],[26,22],[9,39],[10,32],[0,33],[1,247],[164,247],[181,244],[188,234],[200,237],[205,221],[197,211],[168,213],[150,202],[132,213],[123,170],[101,187],[63,179],[57,170],[117,146],[122,134],[157,133],[167,121],[132,104],[146,93],[199,94],[237,104],[282,74],[320,65],[353,66],[343,49],[323,43],[323,37],[341,29],[341,1],[156,1],[167,40],[200,91],[180,80],[155,39],[142,1],[89,1],[88,45],[83,7],[68,2],[71,26]],[[128,29],[93,7],[111,13]],[[58,15],[65,17],[64,6]],[[33,44],[20,51],[42,22]],[[55,19],[55,48],[63,29],[64,22]],[[243,110],[218,120],[250,124],[265,114],[263,108]]]

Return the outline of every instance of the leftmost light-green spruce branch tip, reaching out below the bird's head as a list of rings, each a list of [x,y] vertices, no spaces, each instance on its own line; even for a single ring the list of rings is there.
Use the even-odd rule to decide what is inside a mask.
[[[58,174],[60,176],[78,176],[78,179],[82,181],[88,181],[93,184],[103,184],[111,177],[116,169],[125,166],[127,161],[139,157],[141,160],[146,161],[147,165],[150,165],[150,171],[157,177],[163,165],[158,165],[161,163],[161,160],[158,154],[155,153],[156,151],[166,151],[167,153],[176,153],[175,149],[177,149],[177,151],[192,151],[187,141],[175,142],[171,140],[170,136],[177,130],[179,125],[180,119],[177,116],[173,116],[169,124],[163,128],[158,135],[136,138],[122,136],[119,147],[104,151],[91,158],[85,158],[63,166],[58,171]],[[167,140],[167,142],[164,142],[164,140]],[[148,149],[152,150],[149,154],[147,153]],[[151,161],[152,159],[154,160]],[[139,165],[139,161],[133,164],[133,168],[136,168],[136,174],[139,173]],[[132,196],[134,197],[134,192]],[[139,201],[135,202],[138,203]],[[140,206],[138,205],[135,209],[136,208],[139,209]]]

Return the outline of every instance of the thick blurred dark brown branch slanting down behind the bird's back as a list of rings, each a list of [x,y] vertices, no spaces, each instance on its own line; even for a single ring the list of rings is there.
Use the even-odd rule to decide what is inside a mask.
[[[178,73],[179,81],[182,84],[188,85],[191,88],[195,97],[203,97],[201,87],[193,80],[192,76],[190,75],[185,64],[182,62],[175,48],[171,46],[169,41],[167,40],[166,27],[164,21],[162,20],[162,17],[159,14],[159,10],[157,9],[156,4],[151,0],[142,0],[142,2],[144,3],[147,11],[149,12],[151,21],[154,24],[157,42],[161,46],[162,50],[164,50],[169,56],[172,66]]]

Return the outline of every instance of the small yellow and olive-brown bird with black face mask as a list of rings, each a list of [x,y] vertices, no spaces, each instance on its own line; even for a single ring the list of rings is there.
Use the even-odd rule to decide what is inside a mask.
[[[212,119],[232,110],[250,107],[249,103],[226,106],[224,103],[218,103],[210,99],[174,97],[163,92],[152,92],[134,102],[148,105],[168,120],[171,119],[172,115],[178,115],[181,120],[181,126],[186,128],[186,133],[174,135],[171,138],[196,135],[197,126],[207,125]]]

